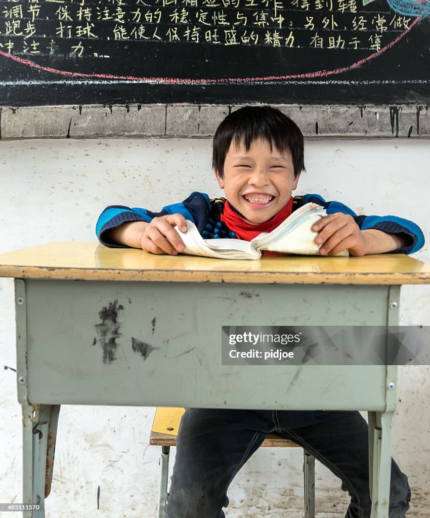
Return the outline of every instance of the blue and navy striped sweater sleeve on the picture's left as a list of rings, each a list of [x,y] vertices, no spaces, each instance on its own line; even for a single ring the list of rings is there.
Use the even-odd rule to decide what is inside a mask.
[[[160,212],[152,212],[139,207],[130,208],[123,205],[110,205],[104,209],[97,220],[97,238],[107,247],[127,248],[125,245],[109,241],[107,232],[119,227],[123,223],[130,223],[132,221],[150,223],[153,218],[177,213],[182,214],[185,219],[195,223],[199,232],[201,232],[203,228],[205,228],[210,214],[210,200],[208,195],[193,192],[183,202],[166,205]]]

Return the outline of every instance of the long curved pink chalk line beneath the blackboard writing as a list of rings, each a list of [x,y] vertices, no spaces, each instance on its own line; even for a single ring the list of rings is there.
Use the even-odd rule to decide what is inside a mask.
[[[228,78],[228,79],[181,79],[181,78],[169,78],[169,77],[134,77],[134,76],[114,76],[111,74],[82,74],[80,72],[69,72],[67,70],[58,70],[56,68],[45,67],[41,65],[37,65],[30,60],[24,60],[22,57],[14,56],[7,52],[0,50],[0,55],[7,57],[13,61],[17,61],[22,65],[29,66],[31,68],[36,68],[37,70],[42,70],[45,72],[51,72],[53,74],[60,74],[61,76],[68,76],[74,78],[99,78],[99,79],[124,79],[129,81],[136,82],[147,82],[147,83],[161,83],[161,84],[222,84],[222,83],[250,83],[250,82],[264,82],[264,81],[282,81],[288,79],[308,79],[314,77],[328,77],[332,75],[342,74],[343,72],[347,72],[348,70],[353,70],[354,68],[375,59],[375,57],[380,56],[383,52],[393,47],[400,39],[402,39],[411,28],[418,23],[420,17],[416,18],[411,25],[402,33],[397,36],[393,41],[389,44],[385,45],[382,49],[370,54],[370,56],[365,57],[364,59],[353,63],[352,65],[336,68],[334,70],[320,70],[317,72],[307,72],[305,74],[294,74],[289,76],[267,76],[267,77],[248,77],[248,78]]]

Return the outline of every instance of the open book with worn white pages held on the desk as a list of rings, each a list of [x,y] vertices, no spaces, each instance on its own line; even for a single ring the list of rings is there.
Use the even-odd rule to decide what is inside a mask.
[[[187,220],[187,232],[175,227],[185,245],[182,252],[219,259],[260,259],[263,250],[288,254],[318,255],[317,232],[311,227],[327,213],[320,205],[307,203],[295,210],[273,231],[263,232],[251,241],[242,239],[203,239],[197,227]],[[349,255],[348,250],[337,255]]]

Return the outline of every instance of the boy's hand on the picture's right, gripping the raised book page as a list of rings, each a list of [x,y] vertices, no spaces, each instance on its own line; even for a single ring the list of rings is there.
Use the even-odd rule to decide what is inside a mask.
[[[312,231],[318,232],[315,242],[321,244],[321,255],[336,255],[342,250],[349,250],[350,255],[367,252],[366,238],[349,214],[328,214],[312,225]]]

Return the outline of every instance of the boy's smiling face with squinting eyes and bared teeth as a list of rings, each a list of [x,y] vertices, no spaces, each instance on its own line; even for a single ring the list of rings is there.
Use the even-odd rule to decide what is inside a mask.
[[[272,218],[297,188],[291,153],[282,154],[267,140],[254,140],[247,151],[232,141],[224,161],[224,177],[215,170],[228,202],[254,224]]]

